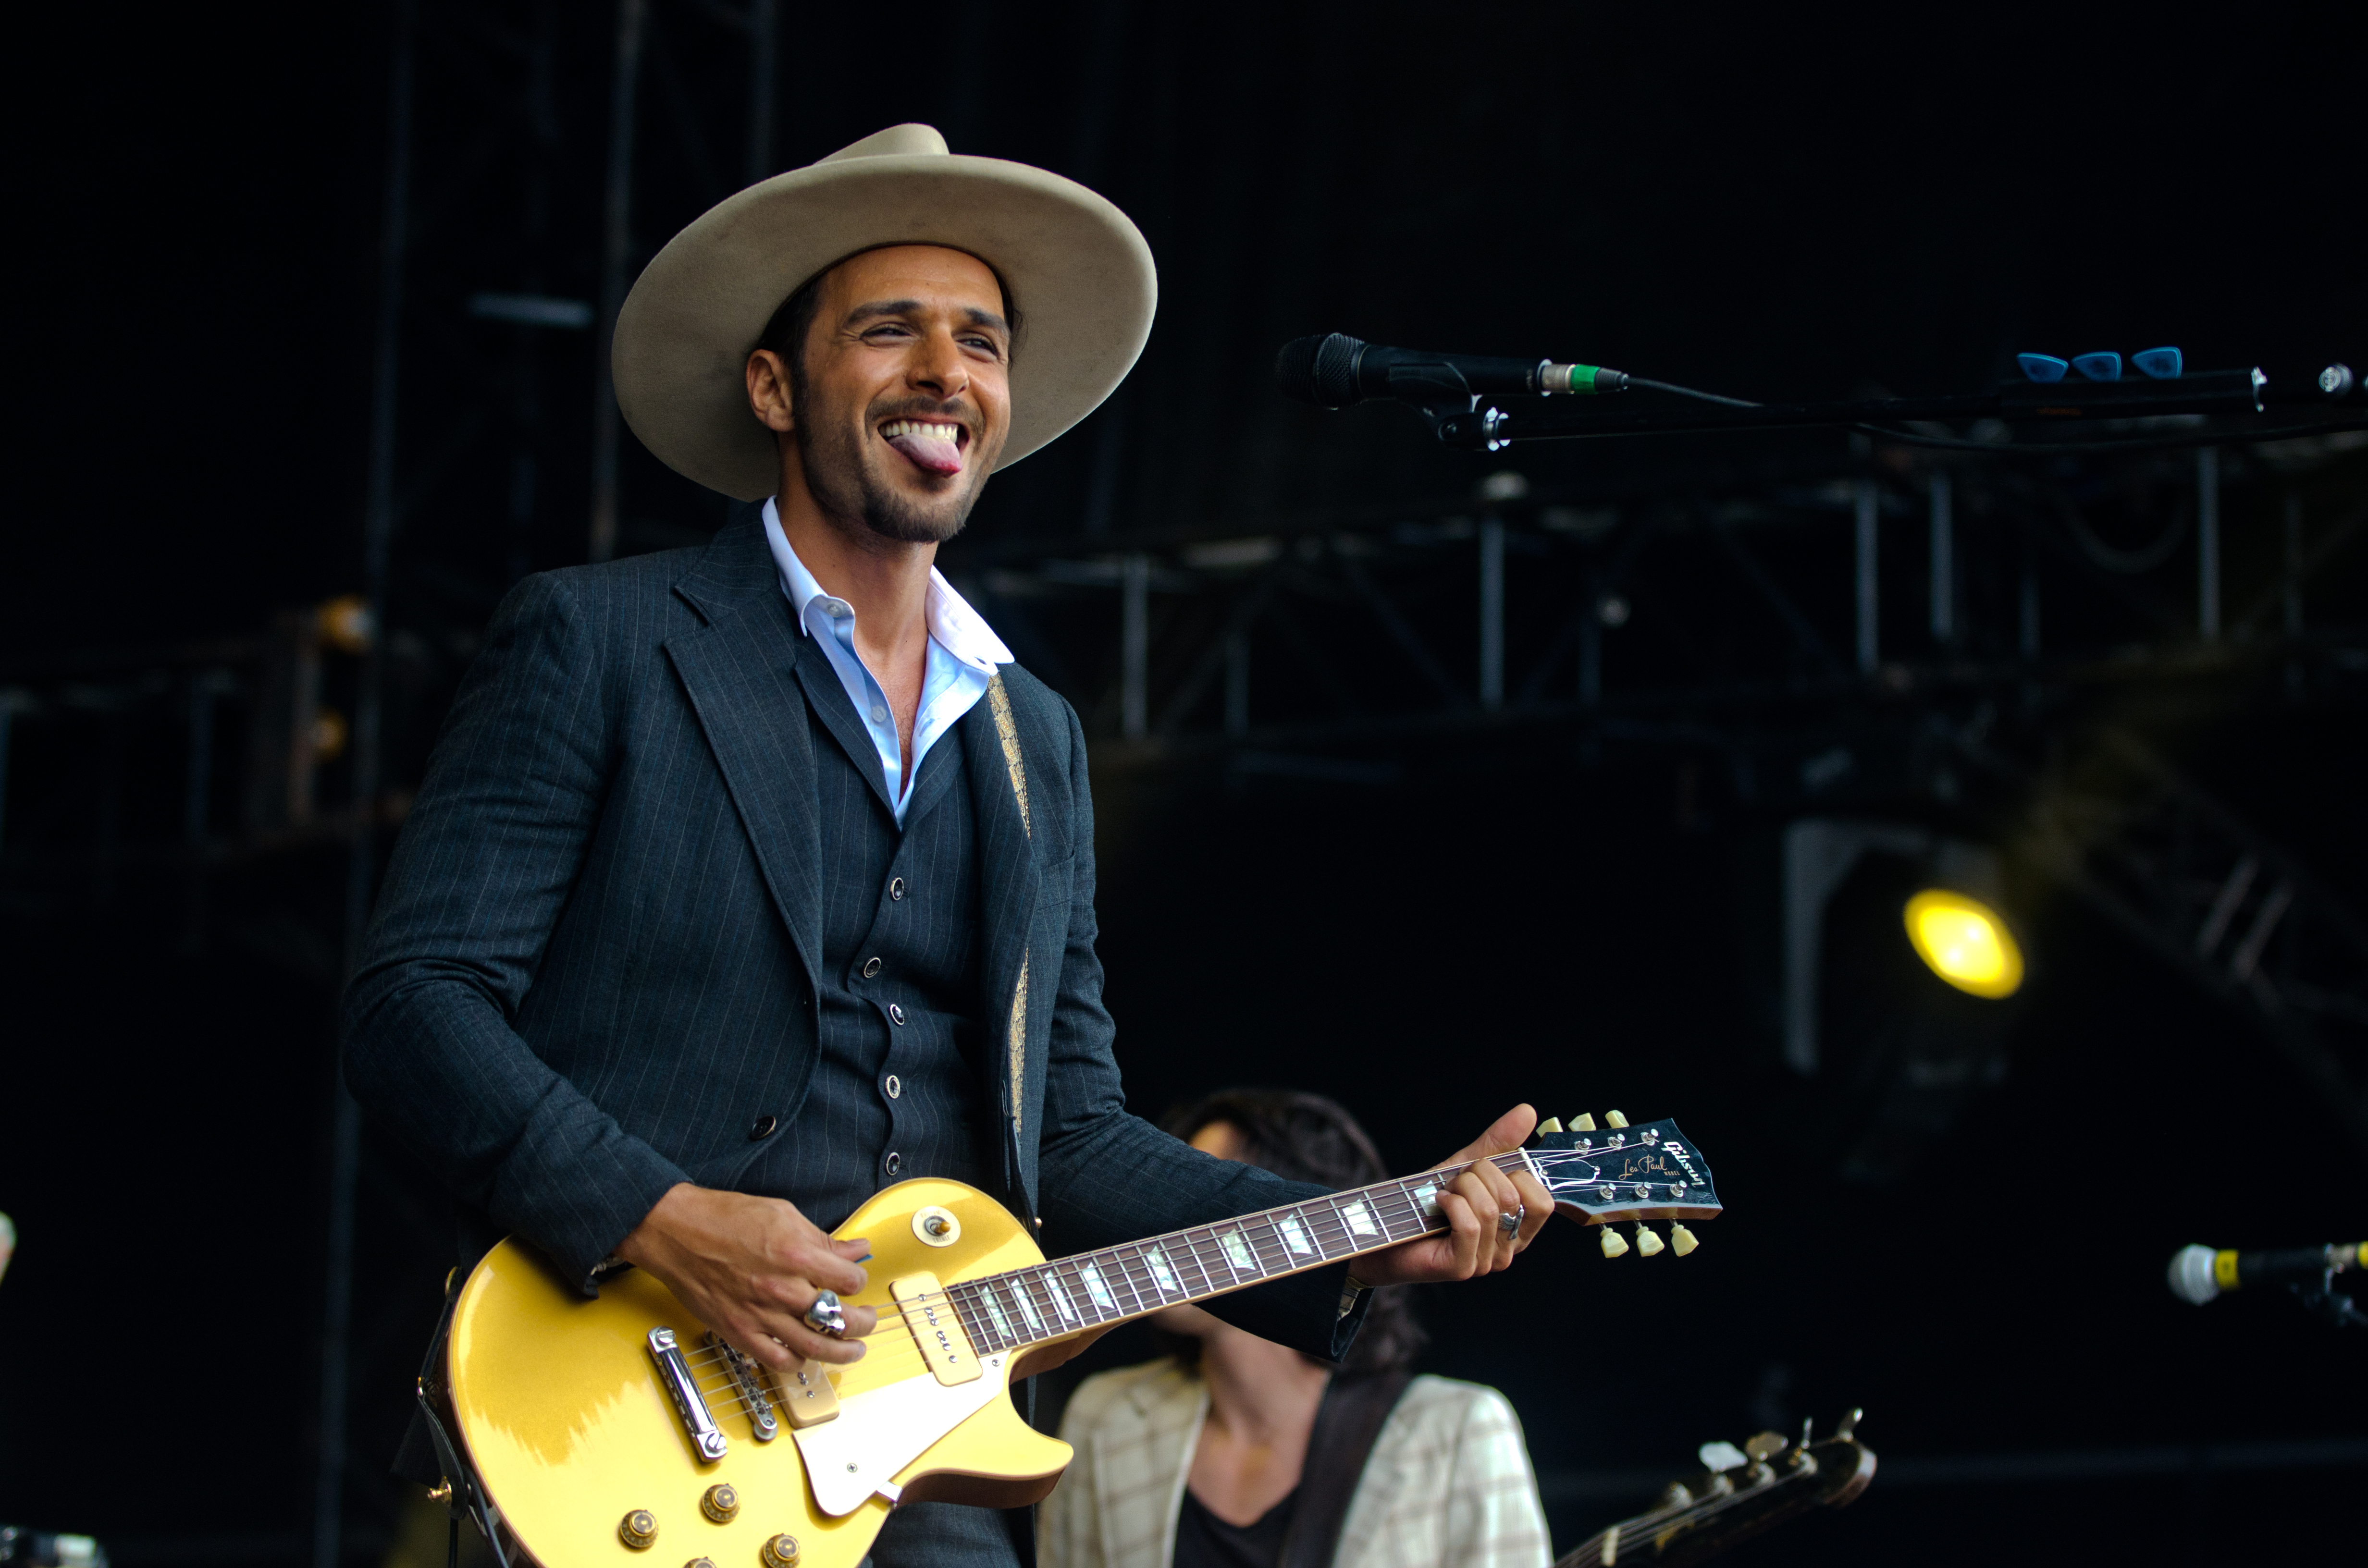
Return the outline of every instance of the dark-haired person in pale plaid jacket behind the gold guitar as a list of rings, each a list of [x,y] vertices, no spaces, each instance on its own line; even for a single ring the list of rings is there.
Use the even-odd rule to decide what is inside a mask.
[[[1354,1118],[1317,1094],[1229,1090],[1167,1127],[1300,1182],[1388,1175]],[[1513,1407],[1480,1383],[1409,1379],[1423,1336],[1399,1291],[1376,1293],[1338,1369],[1198,1307],[1153,1326],[1175,1355],[1070,1395],[1061,1438],[1077,1457],[1037,1516],[1042,1568],[1546,1568],[1553,1556]]]

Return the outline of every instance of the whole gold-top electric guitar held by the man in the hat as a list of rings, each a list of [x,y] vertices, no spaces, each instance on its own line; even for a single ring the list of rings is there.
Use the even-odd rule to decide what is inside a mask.
[[[1674,1123],[1546,1127],[1494,1163],[1534,1172],[1582,1225],[1639,1222],[1643,1255],[1665,1246],[1650,1222],[1669,1222],[1684,1255],[1684,1222],[1719,1213]],[[855,1568],[900,1502],[1021,1506],[1061,1478],[1070,1447],[1009,1400],[1021,1352],[1447,1229],[1435,1196],[1459,1170],[1056,1262],[987,1194],[897,1182],[838,1227],[871,1241],[871,1284],[850,1298],[879,1307],[864,1357],[784,1376],[706,1334],[649,1274],[585,1300],[511,1239],[455,1296],[419,1397],[448,1499],[504,1563]]]

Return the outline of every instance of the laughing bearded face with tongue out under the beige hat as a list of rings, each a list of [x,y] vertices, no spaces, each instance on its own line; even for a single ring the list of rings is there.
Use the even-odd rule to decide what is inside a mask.
[[[834,521],[912,545],[961,533],[1011,433],[1011,327],[961,251],[864,251],[822,279],[791,410],[805,488]]]

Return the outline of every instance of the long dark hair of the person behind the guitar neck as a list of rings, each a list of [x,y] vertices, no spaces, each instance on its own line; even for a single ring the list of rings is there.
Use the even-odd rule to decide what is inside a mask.
[[[1160,1125],[1191,1139],[1203,1127],[1224,1123],[1241,1135],[1236,1158],[1272,1170],[1286,1182],[1314,1182],[1317,1187],[1364,1187],[1381,1182],[1390,1170],[1381,1163],[1381,1151],[1366,1137],[1357,1118],[1340,1101],[1300,1090],[1217,1090],[1160,1118]],[[1364,1310],[1364,1326],[1347,1360],[1345,1374],[1390,1371],[1407,1367],[1428,1343],[1423,1326],[1414,1322],[1414,1303],[1404,1286],[1371,1291]],[[1179,1360],[1198,1355],[1198,1341],[1158,1334],[1160,1343]],[[1182,1341],[1182,1343],[1172,1343]]]

